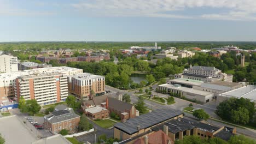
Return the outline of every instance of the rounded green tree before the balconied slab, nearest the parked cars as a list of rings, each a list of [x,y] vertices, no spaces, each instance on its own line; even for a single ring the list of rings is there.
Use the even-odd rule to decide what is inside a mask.
[[[26,112],[30,115],[38,113],[41,109],[41,106],[37,103],[37,100],[31,99],[26,101]]]

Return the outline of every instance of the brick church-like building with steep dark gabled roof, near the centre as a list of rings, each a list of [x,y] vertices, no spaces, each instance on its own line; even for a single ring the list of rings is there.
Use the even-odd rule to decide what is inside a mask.
[[[139,115],[139,112],[132,104],[125,103],[124,101],[115,98],[107,98],[106,108],[109,112],[116,113],[122,121],[129,118],[135,118]]]

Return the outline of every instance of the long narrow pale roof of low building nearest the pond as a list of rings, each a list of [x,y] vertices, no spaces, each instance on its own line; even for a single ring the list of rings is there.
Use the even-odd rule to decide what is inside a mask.
[[[188,92],[188,93],[195,93],[195,94],[200,94],[200,95],[209,95],[209,94],[212,94],[212,92],[206,92],[206,91],[201,91],[201,90],[198,90],[198,89],[193,89],[193,88],[188,88],[188,87],[182,87],[182,86],[174,86],[174,85],[171,85],[171,84],[163,84],[163,85],[159,85],[161,87],[167,87],[167,88],[171,88],[171,89],[176,89],[176,90],[179,90],[179,91],[183,91],[183,92]]]

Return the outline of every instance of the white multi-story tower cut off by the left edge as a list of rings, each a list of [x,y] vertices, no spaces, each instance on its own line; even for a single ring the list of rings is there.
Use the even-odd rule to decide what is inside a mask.
[[[18,71],[18,58],[8,55],[0,56],[0,72],[10,73]]]

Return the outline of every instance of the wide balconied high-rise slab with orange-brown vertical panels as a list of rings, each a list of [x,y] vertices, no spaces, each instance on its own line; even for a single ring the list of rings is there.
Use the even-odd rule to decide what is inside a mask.
[[[15,94],[25,100],[36,99],[40,105],[66,100],[68,96],[67,75],[45,73],[34,76],[19,76],[16,79]]]

